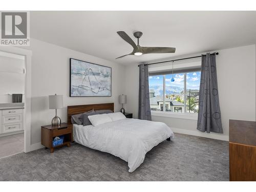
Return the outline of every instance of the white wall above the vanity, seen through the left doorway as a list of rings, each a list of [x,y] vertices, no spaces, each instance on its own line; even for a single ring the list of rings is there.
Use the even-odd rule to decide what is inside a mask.
[[[24,56],[0,51],[0,103],[12,103],[12,95],[9,94],[24,94],[24,68]]]

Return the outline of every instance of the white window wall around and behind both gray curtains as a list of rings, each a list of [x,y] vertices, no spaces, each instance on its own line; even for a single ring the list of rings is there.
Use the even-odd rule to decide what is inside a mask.
[[[216,65],[224,133],[207,134],[199,132],[196,129],[197,120],[192,119],[152,116],[154,121],[165,122],[178,133],[222,140],[228,140],[229,119],[255,121],[255,45],[219,50],[218,52]],[[139,89],[139,69],[137,65],[125,67],[125,87],[125,94],[127,95],[125,110],[133,112],[134,117],[137,118]]]

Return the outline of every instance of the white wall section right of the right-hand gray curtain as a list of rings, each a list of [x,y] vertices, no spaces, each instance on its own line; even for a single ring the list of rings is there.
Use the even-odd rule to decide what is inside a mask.
[[[216,57],[224,135],[229,119],[255,121],[255,45],[225,49]]]

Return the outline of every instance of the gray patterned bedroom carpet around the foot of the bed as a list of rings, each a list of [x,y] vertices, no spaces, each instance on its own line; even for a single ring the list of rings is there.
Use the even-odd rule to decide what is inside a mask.
[[[133,173],[127,163],[77,143],[53,154],[40,149],[0,159],[0,181],[228,181],[228,142],[175,134],[146,154]]]

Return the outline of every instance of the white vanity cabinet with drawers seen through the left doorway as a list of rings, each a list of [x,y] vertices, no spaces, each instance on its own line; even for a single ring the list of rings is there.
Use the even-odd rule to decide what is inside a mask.
[[[23,116],[23,109],[0,110],[0,134],[22,131]]]

